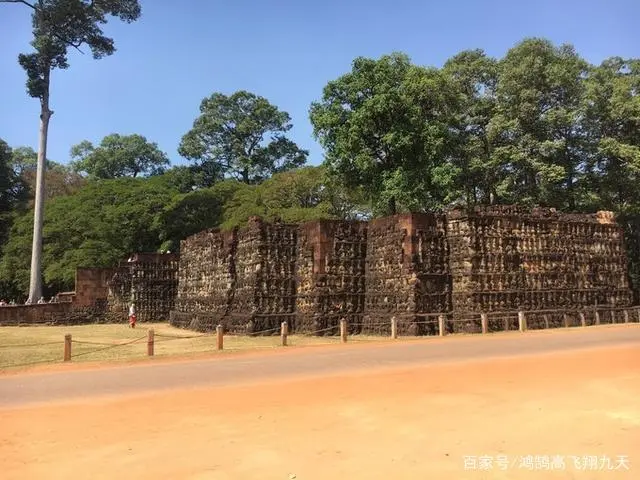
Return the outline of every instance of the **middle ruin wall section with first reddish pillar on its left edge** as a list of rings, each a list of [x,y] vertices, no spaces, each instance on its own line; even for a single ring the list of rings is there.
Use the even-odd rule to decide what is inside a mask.
[[[360,331],[366,253],[365,222],[322,220],[300,226],[295,331],[333,335],[342,318],[352,333]]]

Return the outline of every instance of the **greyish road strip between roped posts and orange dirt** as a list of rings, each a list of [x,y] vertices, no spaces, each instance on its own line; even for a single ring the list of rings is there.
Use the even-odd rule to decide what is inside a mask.
[[[549,353],[597,346],[637,345],[640,325],[546,330],[527,334],[431,338],[413,342],[305,347],[199,361],[146,363],[101,369],[0,376],[0,406],[213,387],[294,376]]]

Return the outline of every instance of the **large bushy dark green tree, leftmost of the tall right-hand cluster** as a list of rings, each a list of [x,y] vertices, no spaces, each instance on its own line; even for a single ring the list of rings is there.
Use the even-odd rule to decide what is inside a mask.
[[[311,106],[331,174],[363,188],[376,213],[437,208],[459,169],[453,162],[455,84],[404,54],[357,58]]]

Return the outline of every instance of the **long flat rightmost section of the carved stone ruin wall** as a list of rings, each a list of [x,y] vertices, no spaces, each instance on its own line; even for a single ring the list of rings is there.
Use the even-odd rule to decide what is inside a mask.
[[[447,228],[458,316],[631,304],[622,230],[608,213],[484,207],[450,212]]]

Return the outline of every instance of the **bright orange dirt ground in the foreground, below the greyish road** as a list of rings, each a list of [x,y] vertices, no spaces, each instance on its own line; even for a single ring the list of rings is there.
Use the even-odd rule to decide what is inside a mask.
[[[0,477],[640,478],[639,399],[620,347],[3,409]]]

